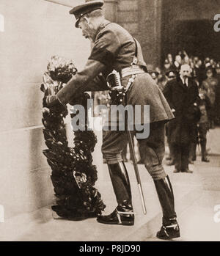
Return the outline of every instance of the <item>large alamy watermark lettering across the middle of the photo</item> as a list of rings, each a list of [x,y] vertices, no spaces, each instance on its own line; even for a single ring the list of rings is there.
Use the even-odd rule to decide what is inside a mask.
[[[146,139],[150,135],[149,105],[105,105],[95,106],[95,112],[105,113],[105,117],[93,117],[93,100],[87,100],[87,114],[84,106],[74,105],[71,110],[76,114],[71,120],[73,131],[85,131],[85,122],[89,131],[136,131],[137,139]],[[127,117],[127,118],[126,118]]]

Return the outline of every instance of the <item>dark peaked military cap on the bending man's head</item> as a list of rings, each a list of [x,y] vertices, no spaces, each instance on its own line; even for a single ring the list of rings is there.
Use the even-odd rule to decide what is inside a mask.
[[[70,14],[75,15],[76,18],[76,27],[78,27],[78,21],[79,19],[94,10],[101,9],[103,6],[104,2],[103,1],[98,1],[98,0],[85,0],[84,4],[79,4],[78,6],[74,7],[72,10],[70,10]]]

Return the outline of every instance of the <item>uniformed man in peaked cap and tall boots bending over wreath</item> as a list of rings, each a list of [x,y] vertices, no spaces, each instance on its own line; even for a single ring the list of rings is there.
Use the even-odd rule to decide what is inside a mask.
[[[87,0],[70,11],[70,14],[76,17],[76,27],[82,30],[83,36],[94,46],[84,69],[73,76],[57,95],[45,98],[44,105],[67,104],[77,97],[78,93],[106,90],[106,84],[103,84],[103,79],[99,77],[100,73],[106,78],[112,70],[117,70],[124,87],[127,87],[129,79],[133,77],[133,84],[127,92],[128,104],[150,105],[150,136],[147,139],[139,139],[139,145],[144,148],[144,164],[154,180],[163,210],[163,225],[157,236],[164,239],[177,238],[180,236],[180,230],[172,185],[162,166],[164,125],[174,116],[161,90],[147,73],[139,43],[122,26],[106,21],[102,7],[103,1]],[[122,161],[122,150],[127,143],[126,131],[105,131],[102,153],[109,167],[118,205],[110,215],[98,216],[98,222],[134,224],[131,186]]]

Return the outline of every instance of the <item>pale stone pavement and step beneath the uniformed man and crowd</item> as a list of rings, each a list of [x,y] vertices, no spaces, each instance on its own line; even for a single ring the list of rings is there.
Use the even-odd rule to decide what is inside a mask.
[[[208,134],[208,148],[210,163],[202,162],[197,156],[197,161],[190,165],[192,174],[173,173],[174,167],[164,164],[175,194],[181,234],[177,241],[220,241],[220,128]],[[147,206],[147,215],[144,215],[133,165],[126,165],[136,213],[133,226],[100,224],[95,218],[78,222],[53,219],[51,205],[48,205],[5,220],[0,224],[0,241],[161,241],[155,238],[162,215],[153,180],[144,166],[139,165]],[[102,170],[95,187],[106,204],[104,213],[108,214],[117,202],[106,164],[102,165]]]

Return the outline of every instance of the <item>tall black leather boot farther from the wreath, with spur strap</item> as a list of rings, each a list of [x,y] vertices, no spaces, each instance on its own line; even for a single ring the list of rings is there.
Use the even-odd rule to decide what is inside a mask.
[[[180,237],[180,228],[177,224],[174,195],[169,177],[154,180],[154,183],[163,211],[163,225],[161,230],[158,231],[157,237],[161,239],[178,238]]]

